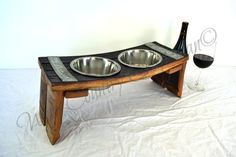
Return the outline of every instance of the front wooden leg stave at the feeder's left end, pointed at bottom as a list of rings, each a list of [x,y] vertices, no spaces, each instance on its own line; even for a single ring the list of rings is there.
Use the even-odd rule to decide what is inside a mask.
[[[64,105],[63,91],[52,91],[47,87],[46,131],[51,144],[55,144],[60,137]]]

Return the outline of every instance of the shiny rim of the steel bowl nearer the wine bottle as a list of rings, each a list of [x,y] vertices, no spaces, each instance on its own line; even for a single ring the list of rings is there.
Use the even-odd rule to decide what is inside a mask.
[[[135,65],[132,65],[132,64],[127,64],[127,63],[125,63],[125,62],[123,62],[122,60],[121,60],[121,57],[125,54],[125,53],[128,53],[128,52],[130,52],[130,51],[135,51],[135,50],[139,50],[139,51],[144,51],[144,52],[151,52],[151,53],[153,53],[153,54],[155,54],[156,56],[158,56],[160,59],[159,59],[159,61],[158,62],[156,62],[156,63],[154,63],[154,64],[151,64],[151,65],[148,65],[148,66],[135,66]],[[160,64],[161,62],[162,62],[162,56],[158,53],[158,52],[156,52],[156,51],[153,51],[153,50],[148,50],[148,49],[130,49],[130,50],[126,50],[126,51],[123,51],[123,52],[121,52],[119,55],[118,55],[118,61],[121,63],[121,64],[123,64],[123,65],[125,65],[125,66],[128,66],[128,67],[132,67],[132,68],[150,68],[150,67],[154,67],[154,66],[156,66],[156,65],[158,65],[158,64]]]

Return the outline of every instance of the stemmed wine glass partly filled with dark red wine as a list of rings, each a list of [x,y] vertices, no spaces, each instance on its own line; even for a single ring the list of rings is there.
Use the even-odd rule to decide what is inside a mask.
[[[196,79],[188,85],[190,89],[196,91],[205,90],[205,87],[200,78],[202,70],[208,68],[214,62],[215,49],[216,49],[216,43],[214,43],[214,45],[211,45],[210,47],[205,47],[203,50],[196,52],[193,55],[193,62],[198,68],[200,68],[200,72],[198,73]]]

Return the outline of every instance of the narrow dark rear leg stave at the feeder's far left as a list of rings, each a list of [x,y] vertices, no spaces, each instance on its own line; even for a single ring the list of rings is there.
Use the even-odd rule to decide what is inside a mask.
[[[46,103],[47,103],[47,84],[45,81],[45,76],[43,72],[41,72],[39,115],[43,125],[46,125]]]

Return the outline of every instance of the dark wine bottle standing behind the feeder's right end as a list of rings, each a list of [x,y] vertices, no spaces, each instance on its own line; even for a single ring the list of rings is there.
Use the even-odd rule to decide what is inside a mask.
[[[174,47],[174,50],[176,50],[178,53],[188,54],[186,46],[187,30],[188,30],[188,22],[182,22],[182,28],[179,34],[179,39]]]

